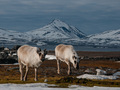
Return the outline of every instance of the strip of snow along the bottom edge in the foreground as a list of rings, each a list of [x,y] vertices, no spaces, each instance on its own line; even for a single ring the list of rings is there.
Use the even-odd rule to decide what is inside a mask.
[[[46,83],[34,84],[0,84],[0,90],[120,90],[119,87],[84,87],[79,85],[71,85],[69,88],[53,88],[55,86]]]

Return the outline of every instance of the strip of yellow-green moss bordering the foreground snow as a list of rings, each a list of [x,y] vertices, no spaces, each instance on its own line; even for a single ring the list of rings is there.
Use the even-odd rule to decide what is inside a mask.
[[[8,77],[9,78],[9,77]],[[56,84],[57,87],[67,88],[69,85],[82,85],[82,86],[107,86],[107,87],[120,87],[120,80],[89,80],[89,79],[78,79],[72,76],[65,77],[41,77],[39,81],[35,82],[34,78],[30,78],[27,81],[20,81],[19,79],[0,79],[0,84],[3,83],[15,83],[15,84],[26,84],[26,83],[43,83],[44,80],[48,80],[48,84]]]

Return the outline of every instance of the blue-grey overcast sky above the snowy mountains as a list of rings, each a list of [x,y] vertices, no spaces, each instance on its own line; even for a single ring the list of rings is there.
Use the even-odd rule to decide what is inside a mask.
[[[120,29],[120,0],[0,0],[0,28],[24,32],[53,19],[86,34]]]

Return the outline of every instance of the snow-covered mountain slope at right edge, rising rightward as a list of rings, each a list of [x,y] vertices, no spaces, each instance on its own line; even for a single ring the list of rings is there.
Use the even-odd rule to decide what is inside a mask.
[[[120,47],[120,29],[89,35],[87,43],[94,46]]]

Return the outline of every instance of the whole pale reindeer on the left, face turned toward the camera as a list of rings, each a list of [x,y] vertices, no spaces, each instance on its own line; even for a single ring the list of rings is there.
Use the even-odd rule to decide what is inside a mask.
[[[17,51],[19,70],[21,73],[20,80],[26,81],[28,74],[28,67],[34,67],[35,81],[37,81],[38,80],[37,69],[41,65],[41,63],[45,60],[46,54],[47,54],[46,50],[42,51],[40,48],[37,47],[32,47],[29,45],[21,46]],[[23,78],[23,66],[26,66],[26,73],[24,78]]]

